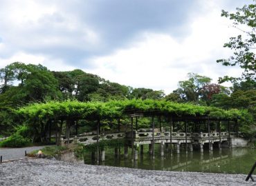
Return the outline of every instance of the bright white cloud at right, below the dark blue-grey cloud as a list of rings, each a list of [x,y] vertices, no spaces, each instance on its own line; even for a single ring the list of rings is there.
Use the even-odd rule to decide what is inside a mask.
[[[210,76],[214,82],[223,75],[239,76],[239,68],[216,63],[230,56],[223,43],[237,30],[228,28],[230,22],[220,17],[217,4],[204,8],[211,11],[195,17],[188,25],[191,30],[187,37],[176,40],[169,34],[144,32],[129,48],[91,59],[95,68],[89,71],[125,85],[165,90],[166,94],[187,79],[188,72]]]

